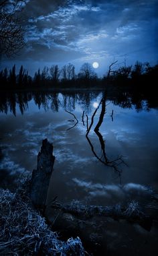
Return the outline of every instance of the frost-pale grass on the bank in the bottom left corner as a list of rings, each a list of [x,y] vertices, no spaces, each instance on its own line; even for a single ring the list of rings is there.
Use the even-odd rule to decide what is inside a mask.
[[[0,255],[84,255],[80,238],[60,241],[20,193],[0,189],[0,218]]]

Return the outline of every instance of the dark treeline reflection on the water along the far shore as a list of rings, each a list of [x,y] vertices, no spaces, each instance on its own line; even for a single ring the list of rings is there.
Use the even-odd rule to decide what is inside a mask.
[[[92,91],[92,92],[52,92],[52,91],[32,91],[32,92],[3,92],[0,94],[0,113],[13,113],[16,115],[17,109],[21,114],[29,108],[29,102],[33,100],[38,108],[44,108],[45,110],[52,109],[54,112],[58,112],[59,108],[64,108],[70,112],[74,112],[76,105],[80,105],[83,111],[90,113],[92,110],[92,103],[96,101],[96,98],[102,98],[106,95],[106,100],[112,100],[112,102],[123,108],[132,108],[135,106],[137,111],[150,110],[150,108],[157,108],[158,101],[153,101],[153,98],[149,97],[144,99],[139,94],[135,96],[135,93],[124,93],[122,91],[114,92],[113,96],[107,94],[106,91]]]

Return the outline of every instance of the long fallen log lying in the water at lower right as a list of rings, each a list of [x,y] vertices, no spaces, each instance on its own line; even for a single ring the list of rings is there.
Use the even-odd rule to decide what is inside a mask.
[[[96,205],[82,205],[78,201],[72,201],[70,204],[53,203],[53,209],[58,209],[63,213],[72,214],[75,218],[84,218],[88,220],[94,216],[110,217],[113,220],[127,220],[130,223],[136,223],[151,230],[152,218],[147,216],[139,206],[138,202],[131,201],[127,205],[113,205],[113,206],[96,206]]]

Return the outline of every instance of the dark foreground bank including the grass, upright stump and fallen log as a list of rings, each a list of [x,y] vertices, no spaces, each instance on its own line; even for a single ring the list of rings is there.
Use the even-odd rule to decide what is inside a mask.
[[[153,191],[145,192],[144,205],[68,205],[56,199],[46,205],[52,152],[52,144],[44,139],[31,179],[15,193],[0,189],[1,255],[157,255],[158,199]],[[139,232],[131,236],[133,226]],[[60,232],[62,240],[52,230]]]

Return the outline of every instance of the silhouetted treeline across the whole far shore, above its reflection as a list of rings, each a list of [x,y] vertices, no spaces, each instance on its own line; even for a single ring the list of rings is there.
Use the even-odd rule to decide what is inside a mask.
[[[102,78],[98,78],[90,63],[84,63],[78,74],[71,63],[64,65],[62,69],[58,65],[38,69],[33,77],[21,65],[16,71],[15,65],[9,71],[7,68],[0,72],[1,89],[16,88],[107,88],[115,90],[125,88],[137,90],[137,92],[148,93],[155,88],[153,82],[157,80],[158,65],[151,67],[149,63],[135,63],[134,66],[116,68],[116,62],[109,66],[109,69]],[[114,65],[113,65],[114,64]],[[149,84],[147,84],[149,83]],[[147,86],[146,86],[147,85]]]

